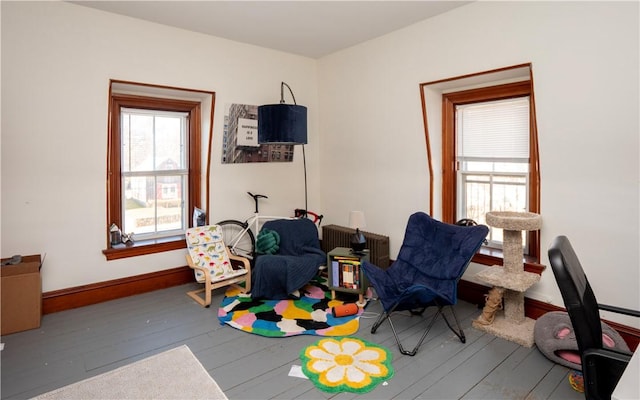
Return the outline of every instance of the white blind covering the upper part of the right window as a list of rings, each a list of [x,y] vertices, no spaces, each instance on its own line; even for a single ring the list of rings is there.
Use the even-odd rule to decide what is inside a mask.
[[[529,159],[528,96],[459,105],[456,119],[459,160]]]

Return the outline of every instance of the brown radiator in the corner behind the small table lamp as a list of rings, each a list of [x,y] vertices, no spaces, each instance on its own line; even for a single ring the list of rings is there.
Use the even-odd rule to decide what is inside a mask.
[[[322,250],[330,252],[336,247],[351,247],[351,235],[355,229],[338,225],[324,225],[322,227]],[[389,236],[378,235],[361,231],[367,241],[366,248],[369,249],[369,262],[380,268],[389,267]]]

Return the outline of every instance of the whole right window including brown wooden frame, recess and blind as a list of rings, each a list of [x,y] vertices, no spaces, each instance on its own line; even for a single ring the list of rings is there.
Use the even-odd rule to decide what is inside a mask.
[[[532,72],[529,64],[421,85],[430,171],[431,212],[441,179],[442,220],[486,223],[488,211],[540,212]],[[435,121],[427,120],[435,116]],[[438,119],[441,116],[441,119]],[[439,124],[441,123],[441,125]],[[429,125],[440,131],[442,176],[433,173]],[[436,158],[437,160],[437,158]],[[437,203],[436,203],[437,204]],[[537,264],[539,232],[523,232],[525,258]],[[502,230],[491,229],[475,262],[502,257]],[[538,267],[534,267],[537,269]]]

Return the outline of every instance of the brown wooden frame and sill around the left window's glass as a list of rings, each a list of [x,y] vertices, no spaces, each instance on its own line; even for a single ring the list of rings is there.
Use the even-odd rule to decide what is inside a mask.
[[[128,94],[111,94],[109,101],[109,132],[107,160],[107,224],[122,224],[121,199],[121,143],[120,110],[122,107],[187,112],[189,114],[189,204],[187,213],[200,206],[202,194],[201,164],[201,105],[199,102],[163,99]],[[212,105],[213,107],[213,105]],[[185,248],[184,235],[170,238],[134,242],[133,246],[111,246],[108,226],[106,229],[107,247],[102,252],[107,260],[134,257],[163,251]]]

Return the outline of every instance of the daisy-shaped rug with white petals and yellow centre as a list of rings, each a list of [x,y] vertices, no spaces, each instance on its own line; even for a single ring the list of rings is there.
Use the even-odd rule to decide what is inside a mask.
[[[324,338],[302,349],[302,372],[325,392],[365,393],[393,376],[391,352],[354,337]]]

